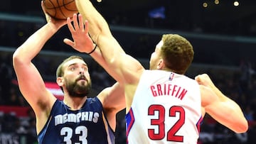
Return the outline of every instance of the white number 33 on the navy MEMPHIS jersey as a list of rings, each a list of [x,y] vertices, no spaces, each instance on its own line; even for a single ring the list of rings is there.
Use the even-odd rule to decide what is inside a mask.
[[[79,141],[82,144],[87,144],[87,128],[85,126],[78,126],[75,128],[75,134],[79,135]],[[72,128],[64,127],[61,128],[60,130],[60,135],[64,136],[63,141],[66,144],[72,144],[71,138],[73,136],[73,130]],[[80,144],[80,143],[75,143],[75,144]]]

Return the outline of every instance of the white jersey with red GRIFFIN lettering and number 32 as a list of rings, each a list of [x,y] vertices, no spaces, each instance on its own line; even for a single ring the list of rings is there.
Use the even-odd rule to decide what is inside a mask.
[[[126,115],[127,143],[196,144],[201,116],[201,93],[194,79],[145,70]]]

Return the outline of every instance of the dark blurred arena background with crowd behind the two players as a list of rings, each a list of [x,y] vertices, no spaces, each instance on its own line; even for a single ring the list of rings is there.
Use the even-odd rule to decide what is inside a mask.
[[[177,33],[193,45],[195,57],[188,77],[208,73],[224,94],[240,104],[250,125],[236,134],[206,115],[198,143],[256,143],[256,1],[246,0],[92,0],[115,38],[148,68],[149,57],[164,33]],[[36,143],[33,111],[20,94],[11,57],[29,35],[46,23],[41,1],[2,1],[0,5],[0,143]],[[85,58],[95,96],[114,80],[89,56],[63,43],[71,38],[63,27],[34,60],[46,87],[58,99],[58,64],[70,55]],[[124,144],[124,111],[117,115],[117,143]]]

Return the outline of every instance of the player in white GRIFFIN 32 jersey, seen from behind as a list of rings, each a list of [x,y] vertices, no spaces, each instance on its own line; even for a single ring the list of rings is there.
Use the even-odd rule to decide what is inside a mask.
[[[73,25],[68,18],[74,41],[64,42],[80,52],[90,52],[95,41],[97,49],[90,55],[102,64],[97,57],[102,53],[107,62],[102,66],[124,84],[127,143],[196,144],[206,113],[235,133],[247,131],[240,106],[220,92],[207,74],[198,75],[196,80],[184,75],[193,60],[188,40],[181,35],[163,35],[151,54],[150,70],[145,70],[122,50],[90,0],[76,0],[76,4],[82,14],[79,21],[76,14]]]

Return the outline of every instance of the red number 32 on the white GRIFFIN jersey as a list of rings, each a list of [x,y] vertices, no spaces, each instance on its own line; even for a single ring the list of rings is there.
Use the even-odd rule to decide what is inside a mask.
[[[166,130],[164,127],[166,111],[164,109],[164,106],[161,105],[149,106],[149,116],[155,116],[155,111],[159,112],[159,116],[156,119],[151,119],[151,125],[157,126],[158,131],[156,131],[156,129],[148,129],[148,134],[151,140],[161,140],[166,135]],[[171,106],[171,108],[169,109],[169,116],[176,117],[177,115],[178,120],[176,121],[174,126],[172,126],[169,131],[167,131],[167,141],[183,142],[183,135],[176,135],[176,133],[185,122],[185,111],[181,106]]]

